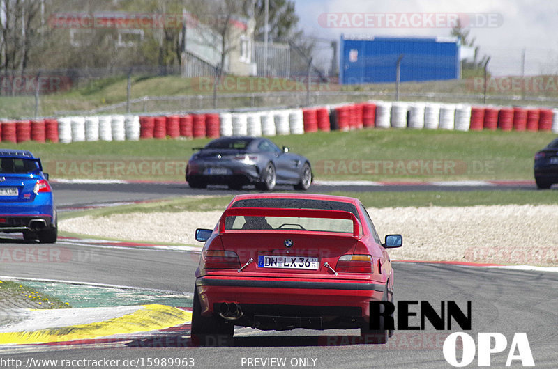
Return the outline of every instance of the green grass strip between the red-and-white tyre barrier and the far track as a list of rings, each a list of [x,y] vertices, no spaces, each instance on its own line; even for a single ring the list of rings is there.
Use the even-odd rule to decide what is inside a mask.
[[[534,154],[556,134],[363,129],[276,136],[305,155],[315,180],[532,180]],[[183,181],[193,148],[209,139],[1,143],[31,150],[52,178]]]

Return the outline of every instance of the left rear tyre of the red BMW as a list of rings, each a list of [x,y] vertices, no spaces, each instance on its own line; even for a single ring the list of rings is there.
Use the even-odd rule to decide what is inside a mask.
[[[234,335],[234,324],[226,322],[215,315],[202,316],[197,288],[194,290],[191,338],[194,345],[218,346],[229,345]]]

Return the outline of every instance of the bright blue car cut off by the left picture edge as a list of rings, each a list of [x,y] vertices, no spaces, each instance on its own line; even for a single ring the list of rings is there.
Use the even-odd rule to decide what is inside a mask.
[[[48,175],[29,151],[0,149],[0,232],[47,244],[58,237]]]

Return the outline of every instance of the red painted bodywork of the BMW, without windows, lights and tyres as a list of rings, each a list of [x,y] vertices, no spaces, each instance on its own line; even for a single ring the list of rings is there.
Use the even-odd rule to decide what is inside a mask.
[[[354,205],[354,212],[322,209],[234,207],[238,201],[257,199],[295,199],[333,201]],[[353,222],[352,233],[302,229],[241,230],[227,229],[227,217],[271,216],[345,219]],[[236,325],[258,327],[257,315],[297,314],[335,321],[339,328],[355,328],[370,319],[370,301],[389,299],[393,290],[393,269],[386,249],[377,242],[375,230],[363,226],[367,215],[355,198],[317,194],[248,194],[236,196],[223,213],[202,250],[196,271],[196,290],[203,316],[218,315],[223,303],[235,303],[246,315]],[[292,246],[286,246],[287,241]],[[232,261],[229,269],[206,267],[209,251]],[[213,254],[212,254],[213,255]],[[259,256],[317,258],[317,269],[261,267]],[[342,269],[341,256],[370,255],[365,265],[370,272],[335,272]],[[209,260],[209,259],[207,259]],[[252,262],[249,262],[252,260]],[[261,259],[260,259],[261,262]],[[357,262],[358,264],[358,262]],[[327,267],[326,265],[329,265]],[[293,312],[294,311],[294,312]],[[345,316],[344,316],[345,315]],[[331,327],[333,327],[331,326]],[[324,324],[317,329],[331,328]],[[260,329],[269,329],[261,328]]]

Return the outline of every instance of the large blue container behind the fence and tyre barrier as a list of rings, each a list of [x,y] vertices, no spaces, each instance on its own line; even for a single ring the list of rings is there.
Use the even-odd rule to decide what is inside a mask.
[[[344,38],[341,36],[341,84],[395,82],[402,55],[400,81],[458,79],[458,38]]]

